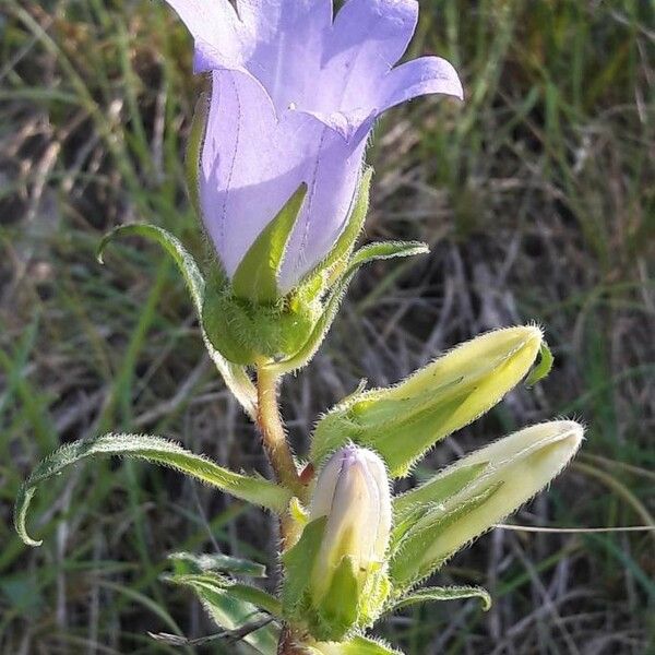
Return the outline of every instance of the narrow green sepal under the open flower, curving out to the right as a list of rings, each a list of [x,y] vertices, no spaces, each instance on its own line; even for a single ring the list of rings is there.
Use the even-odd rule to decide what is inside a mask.
[[[302,368],[315,355],[320,348],[327,331],[330,330],[338,311],[338,307],[346,294],[350,281],[360,266],[379,259],[393,259],[396,257],[410,257],[428,252],[428,247],[418,241],[383,241],[381,243],[371,243],[358,250],[354,255],[345,273],[340,277],[334,288],[330,293],[323,306],[323,312],[317,320],[313,330],[305,345],[288,359],[267,365],[276,374],[284,374]]]

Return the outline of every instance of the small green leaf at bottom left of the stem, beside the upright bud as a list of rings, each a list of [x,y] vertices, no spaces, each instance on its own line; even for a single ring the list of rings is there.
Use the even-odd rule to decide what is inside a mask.
[[[247,624],[257,624],[266,616],[262,614],[257,604],[252,603],[252,599],[262,602],[261,595],[258,594],[257,598],[252,598],[242,594],[240,588],[246,585],[226,585],[219,579],[211,575],[170,576],[166,580],[192,588],[210,617],[217,626],[226,630],[237,631]],[[265,592],[261,592],[261,594],[276,603],[275,598]],[[264,604],[270,600],[264,600]],[[243,636],[243,641],[262,655],[276,655],[278,639],[279,629],[273,623],[267,623]]]

